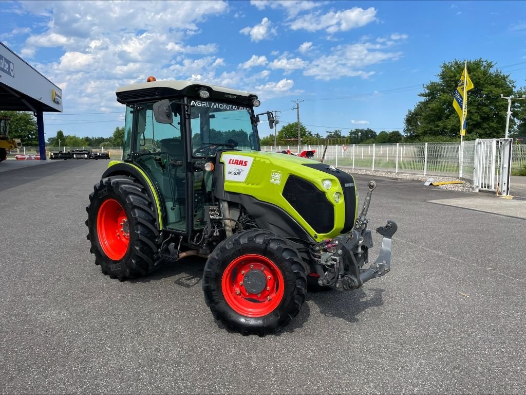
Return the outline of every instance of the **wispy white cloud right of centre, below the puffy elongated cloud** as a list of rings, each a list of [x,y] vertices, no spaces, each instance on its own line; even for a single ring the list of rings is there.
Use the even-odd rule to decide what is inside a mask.
[[[338,45],[330,54],[317,57],[304,71],[304,75],[317,80],[335,80],[341,77],[368,78],[373,71],[362,70],[387,60],[397,60],[401,52],[385,52],[381,44],[358,43]]]

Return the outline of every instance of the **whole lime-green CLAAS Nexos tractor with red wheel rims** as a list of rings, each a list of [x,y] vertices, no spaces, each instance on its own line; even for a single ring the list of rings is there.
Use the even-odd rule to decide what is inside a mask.
[[[353,177],[304,157],[261,152],[257,95],[188,81],[118,88],[123,161],[89,195],[95,264],[120,281],[206,258],[205,301],[225,328],[278,331],[311,288],[352,290],[390,270],[393,221],[378,259]]]

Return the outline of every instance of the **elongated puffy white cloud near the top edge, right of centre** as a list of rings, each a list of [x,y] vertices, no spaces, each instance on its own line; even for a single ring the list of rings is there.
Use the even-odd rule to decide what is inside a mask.
[[[296,18],[289,26],[292,30],[304,29],[308,32],[317,32],[325,29],[327,33],[333,34],[365,26],[375,21],[375,16],[376,9],[373,7],[367,9],[353,7],[344,11],[330,11],[326,14],[316,12],[303,15]]]

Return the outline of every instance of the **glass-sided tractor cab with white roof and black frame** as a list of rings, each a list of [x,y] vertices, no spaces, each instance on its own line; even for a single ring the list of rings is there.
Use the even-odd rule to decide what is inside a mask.
[[[123,159],[161,196],[163,228],[194,234],[206,225],[215,157],[259,151],[255,94],[215,85],[151,81],[120,88],[126,104]],[[268,116],[274,126],[272,113]]]

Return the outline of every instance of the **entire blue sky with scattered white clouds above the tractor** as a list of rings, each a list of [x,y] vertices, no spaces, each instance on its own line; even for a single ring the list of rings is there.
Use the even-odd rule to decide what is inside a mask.
[[[46,138],[112,135],[124,124],[115,89],[149,75],[256,92],[281,125],[302,100],[301,122],[321,135],[402,131],[422,85],[456,58],[490,60],[526,86],[520,1],[38,1],[0,13],[0,41],[63,90]]]

